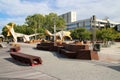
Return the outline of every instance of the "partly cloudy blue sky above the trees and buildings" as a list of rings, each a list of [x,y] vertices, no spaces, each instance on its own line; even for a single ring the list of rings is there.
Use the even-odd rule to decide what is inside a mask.
[[[77,13],[77,20],[96,15],[120,22],[120,0],[0,0],[0,32],[9,22],[24,24],[29,15],[51,12],[61,15],[69,11]]]

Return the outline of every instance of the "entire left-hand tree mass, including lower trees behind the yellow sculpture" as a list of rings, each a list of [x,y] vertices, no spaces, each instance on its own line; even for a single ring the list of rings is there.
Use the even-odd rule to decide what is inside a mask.
[[[63,18],[59,18],[55,13],[49,13],[45,16],[42,14],[34,14],[27,16],[25,20],[25,24],[14,26],[15,32],[27,35],[40,33],[40,36],[44,37],[45,29],[53,32],[54,22],[57,28],[65,27],[65,21]],[[8,25],[11,25],[11,23],[8,23]],[[8,29],[6,27],[2,29],[2,34],[5,37],[7,37],[7,30]]]

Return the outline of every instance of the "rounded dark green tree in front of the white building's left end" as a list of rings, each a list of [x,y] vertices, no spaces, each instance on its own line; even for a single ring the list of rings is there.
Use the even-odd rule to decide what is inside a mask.
[[[87,40],[90,39],[91,32],[85,28],[76,28],[75,30],[71,31],[71,36],[74,39],[79,40]]]

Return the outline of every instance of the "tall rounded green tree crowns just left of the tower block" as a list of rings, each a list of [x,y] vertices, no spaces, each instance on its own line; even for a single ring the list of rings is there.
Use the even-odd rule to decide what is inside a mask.
[[[54,24],[56,25],[56,28],[64,28],[65,27],[65,21],[63,18],[59,18],[56,13],[49,13],[48,15],[41,15],[41,14],[34,14],[32,16],[28,16],[26,19],[26,24],[28,27],[32,27],[35,30],[38,31],[38,28],[46,28],[50,30],[51,32],[54,31]]]

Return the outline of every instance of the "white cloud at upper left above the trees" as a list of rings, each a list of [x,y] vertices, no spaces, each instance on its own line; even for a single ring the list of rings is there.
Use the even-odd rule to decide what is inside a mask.
[[[30,3],[27,1],[21,2],[20,0],[2,0],[0,5],[2,11],[10,16],[30,15],[34,13],[46,13],[50,8],[46,2],[42,3]]]

